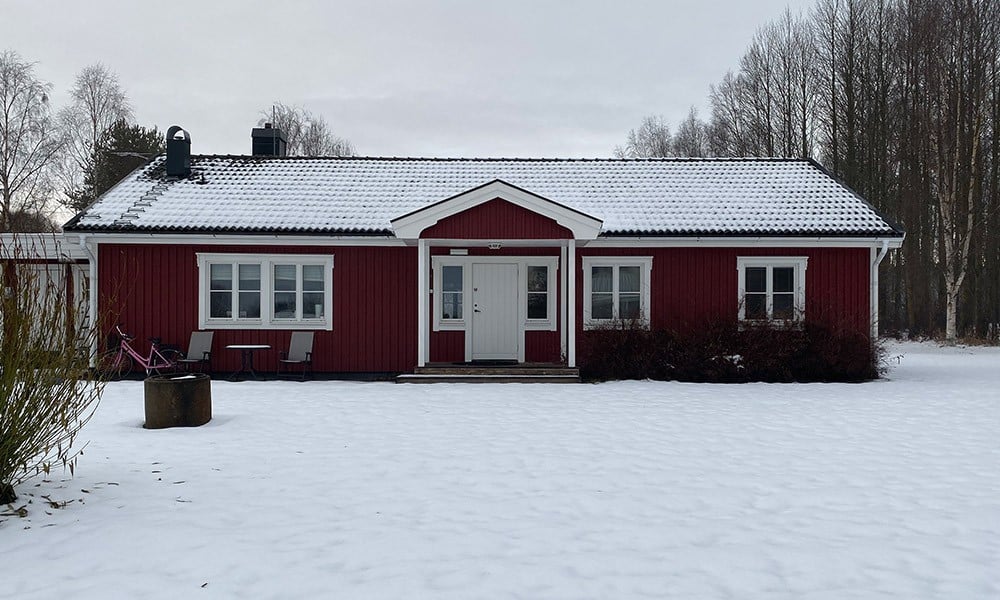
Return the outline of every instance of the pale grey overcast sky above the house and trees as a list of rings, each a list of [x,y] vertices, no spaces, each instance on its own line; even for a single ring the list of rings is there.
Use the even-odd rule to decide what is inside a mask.
[[[364,155],[596,157],[644,115],[704,111],[759,26],[812,4],[0,0],[0,49],[57,106],[104,63],[139,123],[181,125],[200,154],[248,153],[280,100]]]

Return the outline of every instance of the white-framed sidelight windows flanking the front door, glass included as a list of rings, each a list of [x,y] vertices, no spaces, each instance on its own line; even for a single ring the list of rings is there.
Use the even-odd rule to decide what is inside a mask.
[[[518,319],[525,331],[556,330],[556,271],[558,256],[434,256],[434,331],[465,331],[471,315],[472,265],[516,264]],[[514,297],[513,295],[511,296]],[[469,300],[471,302],[471,300]]]

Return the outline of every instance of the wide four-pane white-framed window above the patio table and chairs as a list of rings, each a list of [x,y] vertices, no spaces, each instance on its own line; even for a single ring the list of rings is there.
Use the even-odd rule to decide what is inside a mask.
[[[198,254],[201,329],[333,329],[333,257]]]

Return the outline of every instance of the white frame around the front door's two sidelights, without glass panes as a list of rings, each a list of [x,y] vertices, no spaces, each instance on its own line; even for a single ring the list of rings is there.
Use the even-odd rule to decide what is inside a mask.
[[[467,320],[468,307],[465,301],[472,298],[472,265],[486,263],[501,263],[517,265],[518,286],[518,322],[522,331],[556,331],[557,327],[557,288],[559,268],[558,256],[452,256],[439,255],[431,257],[433,277],[434,331],[468,331],[471,323]],[[441,295],[443,293],[442,267],[462,267],[462,317],[461,319],[441,318]],[[545,319],[528,318],[528,267],[548,267],[548,308]]]

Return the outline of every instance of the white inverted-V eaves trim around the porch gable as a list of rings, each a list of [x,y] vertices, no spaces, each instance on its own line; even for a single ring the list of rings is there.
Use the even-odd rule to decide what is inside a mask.
[[[456,215],[470,208],[500,198],[521,208],[548,217],[573,232],[578,240],[596,239],[604,222],[600,219],[567,208],[541,196],[532,194],[499,179],[473,188],[436,204],[391,221],[397,238],[416,239],[428,227],[441,219]]]

